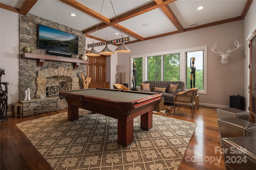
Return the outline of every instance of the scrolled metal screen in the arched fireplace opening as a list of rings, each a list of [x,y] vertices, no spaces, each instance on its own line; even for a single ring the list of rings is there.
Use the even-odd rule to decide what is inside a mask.
[[[53,76],[47,78],[46,95],[56,96],[59,95],[60,90],[73,90],[73,79],[67,76]]]

